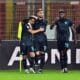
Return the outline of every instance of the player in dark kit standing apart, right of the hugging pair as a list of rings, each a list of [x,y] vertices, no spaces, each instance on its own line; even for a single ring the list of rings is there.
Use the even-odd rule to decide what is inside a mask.
[[[58,46],[58,51],[60,53],[61,68],[62,68],[62,71],[65,73],[68,71],[67,70],[67,50],[70,47],[69,27],[71,27],[71,29],[74,32],[75,43],[76,43],[76,31],[72,21],[65,17],[65,11],[63,9],[59,11],[59,19],[57,19],[51,25],[51,29],[54,25],[57,26],[57,46]]]

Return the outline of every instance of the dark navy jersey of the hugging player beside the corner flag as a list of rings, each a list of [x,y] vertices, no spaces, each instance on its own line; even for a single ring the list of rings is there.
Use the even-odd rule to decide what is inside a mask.
[[[29,32],[30,29],[30,25],[29,24],[23,24],[22,26],[22,38],[26,37],[28,39],[30,39],[32,37],[32,34]]]

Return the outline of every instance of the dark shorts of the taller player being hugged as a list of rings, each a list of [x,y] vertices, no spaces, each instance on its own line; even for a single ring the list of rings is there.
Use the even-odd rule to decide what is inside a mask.
[[[48,50],[47,39],[34,40],[34,48],[35,48],[35,52],[36,51],[47,52]]]

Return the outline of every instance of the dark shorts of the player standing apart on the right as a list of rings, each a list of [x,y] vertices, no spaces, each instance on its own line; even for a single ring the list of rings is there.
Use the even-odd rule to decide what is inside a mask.
[[[63,49],[69,49],[70,42],[69,41],[57,41],[57,47],[58,47],[59,51],[61,51]]]

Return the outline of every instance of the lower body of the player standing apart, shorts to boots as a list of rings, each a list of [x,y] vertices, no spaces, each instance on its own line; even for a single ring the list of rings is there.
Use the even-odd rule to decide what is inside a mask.
[[[67,50],[69,48],[68,43],[66,43],[67,45],[65,45],[65,42],[61,42],[59,45],[59,52],[60,52],[60,63],[61,63],[61,68],[63,70],[63,72],[67,72]]]

